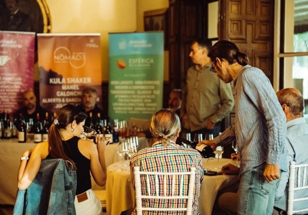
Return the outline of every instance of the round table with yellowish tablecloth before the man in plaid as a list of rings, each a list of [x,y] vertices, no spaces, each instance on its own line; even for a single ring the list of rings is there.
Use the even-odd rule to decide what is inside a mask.
[[[203,158],[204,168],[220,171],[221,166],[232,162],[231,159]],[[125,164],[125,162],[124,162]],[[109,215],[119,215],[122,211],[136,207],[135,190],[132,186],[128,161],[122,169],[122,162],[107,167],[106,209]],[[220,169],[215,169],[220,167]],[[238,181],[237,175],[204,176],[199,196],[199,210],[202,215],[211,215],[219,190],[232,186]]]

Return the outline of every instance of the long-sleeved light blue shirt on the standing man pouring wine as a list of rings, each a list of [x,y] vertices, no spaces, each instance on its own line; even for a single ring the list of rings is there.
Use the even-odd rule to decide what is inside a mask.
[[[215,143],[237,141],[241,155],[240,173],[261,165],[279,164],[286,171],[286,115],[270,80],[261,69],[244,66],[233,79],[235,120]]]

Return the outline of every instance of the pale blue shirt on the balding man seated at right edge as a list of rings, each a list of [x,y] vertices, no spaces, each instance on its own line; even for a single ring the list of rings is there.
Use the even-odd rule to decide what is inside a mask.
[[[295,165],[308,163],[308,125],[304,117],[292,119],[287,122],[286,135],[287,151],[287,172],[283,172],[278,189],[276,191],[274,206],[284,211],[287,209],[288,189],[289,189],[289,166],[290,161],[295,161]],[[295,184],[297,171],[295,171]],[[294,198],[307,197],[307,190],[294,192]],[[306,208],[308,201],[294,202],[293,209],[300,210]]]

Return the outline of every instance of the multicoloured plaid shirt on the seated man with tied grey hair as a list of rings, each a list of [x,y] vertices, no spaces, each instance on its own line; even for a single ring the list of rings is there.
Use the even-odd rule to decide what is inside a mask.
[[[163,146],[160,141],[155,142],[152,147],[145,148],[134,154],[130,161],[131,167],[131,177],[132,177],[132,184],[135,188],[135,180],[134,180],[134,167],[139,166],[140,171],[150,171],[150,172],[187,172],[190,171],[192,166],[196,167],[196,180],[195,180],[195,187],[194,187],[194,201],[193,201],[193,215],[200,215],[198,206],[198,197],[200,195],[201,184],[203,180],[203,165],[202,165],[202,158],[199,152],[192,148],[184,148],[182,146],[176,145],[175,143],[171,143],[170,146]],[[143,177],[144,175],[141,175]],[[168,176],[172,177],[172,176]],[[155,190],[155,182],[154,178],[151,176],[149,177],[152,181],[150,183],[151,186],[151,195],[153,195],[152,191]],[[160,178],[159,180],[162,180]],[[187,195],[188,192],[188,180],[189,176],[184,176],[184,183],[187,186],[183,187],[184,194]],[[171,196],[171,181],[168,180],[170,183],[167,184],[167,196]],[[162,195],[163,193],[163,183],[160,183],[160,190]],[[168,189],[170,187],[170,189]],[[178,195],[178,189],[175,189],[175,195]],[[141,178],[141,192],[145,194],[146,190],[146,180]],[[142,199],[142,206],[143,207],[186,207],[187,200],[167,200],[167,199]],[[133,211],[132,215],[136,214],[136,209]],[[143,214],[186,214],[186,211],[182,212],[172,212],[172,211],[147,211]]]

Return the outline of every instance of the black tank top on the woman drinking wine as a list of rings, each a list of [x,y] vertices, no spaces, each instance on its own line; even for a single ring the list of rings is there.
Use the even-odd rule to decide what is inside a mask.
[[[76,166],[76,176],[77,176],[77,190],[76,195],[84,193],[91,189],[91,176],[90,176],[90,159],[83,156],[78,149],[79,137],[72,137],[66,141],[62,140],[63,148],[67,157],[71,158]],[[48,154],[46,159],[52,159]]]

